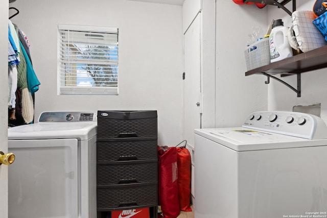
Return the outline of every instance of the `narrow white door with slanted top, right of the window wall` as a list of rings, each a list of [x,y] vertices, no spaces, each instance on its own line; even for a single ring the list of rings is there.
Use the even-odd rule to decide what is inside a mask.
[[[201,20],[198,14],[184,34],[184,139],[194,148],[194,129],[201,128]]]

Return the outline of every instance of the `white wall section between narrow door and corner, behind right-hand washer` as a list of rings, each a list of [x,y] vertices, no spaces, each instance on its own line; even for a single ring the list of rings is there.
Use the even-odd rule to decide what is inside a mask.
[[[245,77],[252,27],[267,30],[266,8],[216,1],[216,127],[240,126],[250,113],[267,110],[265,78]]]

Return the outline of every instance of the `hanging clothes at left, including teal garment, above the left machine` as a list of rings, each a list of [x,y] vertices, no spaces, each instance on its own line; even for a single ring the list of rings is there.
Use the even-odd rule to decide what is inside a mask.
[[[8,89],[8,93],[10,93],[10,98],[8,98],[8,124],[9,126],[19,126],[33,123],[34,93],[38,91],[40,82],[33,69],[30,44],[26,34],[19,30],[17,25],[10,20],[8,27],[10,32],[9,35],[11,35],[11,38],[9,37],[8,40],[9,43],[13,45],[12,49],[10,49],[10,53],[8,51],[8,65],[10,65],[8,66],[10,86],[10,90]],[[17,79],[15,78],[15,73]],[[15,88],[16,91],[13,94]]]

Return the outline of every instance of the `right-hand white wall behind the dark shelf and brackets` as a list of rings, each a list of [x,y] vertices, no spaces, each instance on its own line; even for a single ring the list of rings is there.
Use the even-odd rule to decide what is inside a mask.
[[[312,10],[314,0],[297,0],[296,10]],[[287,8],[292,11],[292,3],[288,3]],[[284,26],[292,25],[291,17],[282,9],[270,6],[268,22],[271,19],[283,19]],[[286,82],[296,87],[296,76],[283,78]],[[292,111],[295,105],[311,105],[321,103],[321,118],[327,122],[327,74],[326,69],[314,70],[301,74],[301,97],[297,98],[294,91],[285,85],[272,81],[268,89],[268,109]]]

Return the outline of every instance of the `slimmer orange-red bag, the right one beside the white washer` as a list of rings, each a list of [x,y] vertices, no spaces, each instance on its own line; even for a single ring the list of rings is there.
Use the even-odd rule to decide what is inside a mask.
[[[177,148],[179,209],[192,211],[191,199],[191,154],[188,149]]]

